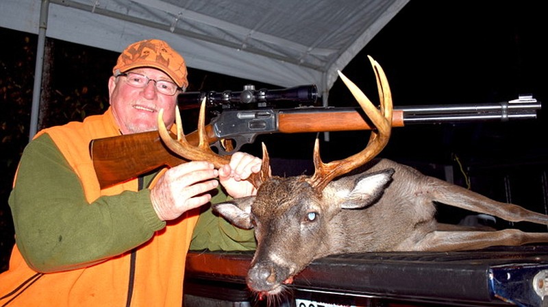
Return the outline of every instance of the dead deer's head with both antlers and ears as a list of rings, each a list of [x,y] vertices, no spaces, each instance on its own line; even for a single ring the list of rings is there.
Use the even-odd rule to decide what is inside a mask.
[[[373,58],[369,57],[369,60],[377,78],[381,101],[379,109],[339,72],[375,127],[362,151],[343,160],[324,163],[320,158],[319,140],[316,139],[314,175],[277,177],[269,175],[269,156],[263,145],[262,171],[250,179],[258,188],[257,195],[214,205],[214,210],[234,225],[255,229],[258,246],[247,276],[247,284],[253,291],[277,294],[283,290],[284,283],[290,282],[292,276],[312,260],[332,254],[332,248],[336,245],[332,241],[336,241],[336,233],[329,223],[334,216],[342,209],[371,204],[390,181],[391,170],[333,181],[373,159],[390,138],[393,112],[390,88],[382,67]],[[203,126],[202,104],[199,131],[203,130]],[[192,148],[184,140],[182,132],[177,133],[177,141],[173,140],[161,118],[158,127],[166,145],[184,158],[209,160],[219,166],[229,159],[213,153],[205,137],[203,140],[201,138],[198,148]],[[177,127],[181,127],[180,117],[177,117]],[[205,135],[202,132],[199,134]]]

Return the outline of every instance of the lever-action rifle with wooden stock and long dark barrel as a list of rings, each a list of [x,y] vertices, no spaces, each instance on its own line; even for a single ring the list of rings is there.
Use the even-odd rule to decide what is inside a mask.
[[[290,90],[296,89],[299,88]],[[317,95],[314,90],[315,86],[308,92],[303,90],[303,97],[295,96],[291,99],[315,101]],[[188,98],[184,97],[186,94],[179,95],[179,104],[185,99],[188,102]],[[193,100],[203,98],[203,95],[188,93],[188,97],[192,97]],[[214,101],[217,98],[210,95],[208,99],[208,106],[215,107]],[[225,103],[228,101],[230,99],[225,99]],[[234,103],[234,98],[231,103]],[[210,145],[216,147],[220,153],[232,153],[243,144],[253,143],[259,134],[371,130],[369,119],[360,108],[276,109],[262,106],[242,110],[234,104],[232,107],[221,110],[206,125]],[[540,102],[532,96],[521,96],[519,99],[501,103],[406,106],[394,108],[392,125],[403,127],[412,123],[535,119],[537,110],[540,110]],[[197,145],[197,132],[186,135],[186,138],[192,145]],[[160,167],[174,167],[186,162],[167,149],[155,131],[92,140],[90,155],[101,188],[124,182]]]

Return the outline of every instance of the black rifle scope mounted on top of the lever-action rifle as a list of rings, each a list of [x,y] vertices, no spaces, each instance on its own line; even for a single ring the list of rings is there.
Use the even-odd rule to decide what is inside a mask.
[[[236,108],[238,104],[269,103],[273,101],[296,101],[312,104],[318,99],[318,89],[316,85],[310,84],[279,90],[268,90],[266,88],[255,90],[255,86],[248,84],[244,86],[244,90],[241,92],[225,90],[222,93],[213,91],[181,93],[177,96],[177,103],[179,103],[179,106],[188,103],[201,103],[204,97],[206,97],[206,106],[223,106],[223,108]]]

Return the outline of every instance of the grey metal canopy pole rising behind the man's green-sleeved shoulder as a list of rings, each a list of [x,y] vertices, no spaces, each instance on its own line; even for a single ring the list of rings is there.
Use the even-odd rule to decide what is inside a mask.
[[[40,112],[42,67],[44,66],[48,8],[49,0],[42,0],[42,6],[40,8],[40,23],[38,24],[38,47],[36,49],[36,66],[34,68],[34,88],[32,90],[29,141],[32,140],[32,138],[36,135],[36,132],[38,132],[38,113]]]

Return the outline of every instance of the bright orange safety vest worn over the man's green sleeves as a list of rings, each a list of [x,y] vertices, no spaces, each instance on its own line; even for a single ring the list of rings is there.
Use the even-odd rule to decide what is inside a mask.
[[[83,123],[68,123],[40,133],[45,132],[79,176],[89,202],[103,195],[137,191],[138,180],[99,188],[88,144],[93,138],[119,135],[110,108],[105,114],[88,116]],[[10,269],[0,274],[0,307],[182,306],[186,253],[197,218],[197,210],[186,212],[133,253],[127,251],[73,271],[38,273],[29,268],[15,246]]]

